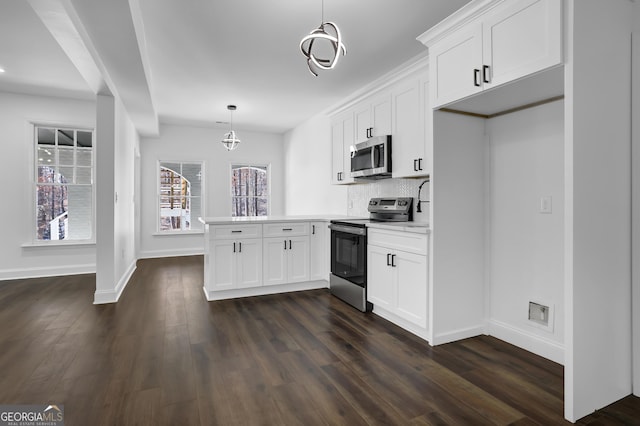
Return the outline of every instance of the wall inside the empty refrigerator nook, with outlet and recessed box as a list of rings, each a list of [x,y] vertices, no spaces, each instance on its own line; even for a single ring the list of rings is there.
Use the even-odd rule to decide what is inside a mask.
[[[486,123],[489,141],[489,334],[564,363],[564,103]],[[551,213],[540,198],[551,197]],[[552,308],[549,329],[529,301]],[[554,321],[555,320],[555,321]]]

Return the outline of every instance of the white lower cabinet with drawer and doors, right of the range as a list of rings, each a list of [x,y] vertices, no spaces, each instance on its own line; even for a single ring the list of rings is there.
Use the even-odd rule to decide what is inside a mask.
[[[412,235],[403,238],[403,234],[406,233],[369,231],[367,299],[373,303],[374,312],[381,308],[426,329],[429,306],[427,237]],[[384,240],[388,244],[384,244]],[[398,250],[399,244],[404,246],[407,243],[418,245],[415,252]],[[409,249],[413,248],[409,245]]]

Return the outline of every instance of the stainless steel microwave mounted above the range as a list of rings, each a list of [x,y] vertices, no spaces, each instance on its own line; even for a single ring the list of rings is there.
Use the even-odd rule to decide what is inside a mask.
[[[351,176],[356,179],[391,177],[391,135],[374,136],[352,148]]]

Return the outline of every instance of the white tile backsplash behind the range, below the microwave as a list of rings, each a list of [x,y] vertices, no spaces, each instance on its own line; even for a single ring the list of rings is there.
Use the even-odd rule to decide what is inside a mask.
[[[418,187],[425,179],[380,179],[367,183],[349,185],[347,199],[350,216],[368,217],[367,205],[373,197],[412,197],[413,220],[416,222],[429,222],[429,203],[422,203],[422,213],[416,213],[416,201]],[[420,199],[431,199],[431,183],[427,182],[422,187]]]

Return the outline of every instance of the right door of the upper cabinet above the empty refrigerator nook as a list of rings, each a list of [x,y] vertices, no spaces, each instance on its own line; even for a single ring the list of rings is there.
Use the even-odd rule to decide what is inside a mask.
[[[562,2],[505,2],[483,19],[485,88],[516,80],[562,62]]]

